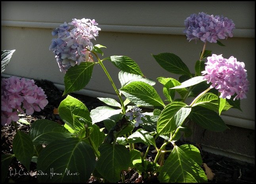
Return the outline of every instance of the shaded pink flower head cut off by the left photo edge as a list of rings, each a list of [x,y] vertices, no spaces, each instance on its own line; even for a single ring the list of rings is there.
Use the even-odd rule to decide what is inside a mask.
[[[11,121],[18,121],[19,112],[31,115],[34,111],[41,111],[48,104],[46,98],[44,91],[35,85],[34,80],[19,79],[15,76],[2,78],[1,124],[4,126],[9,125]]]

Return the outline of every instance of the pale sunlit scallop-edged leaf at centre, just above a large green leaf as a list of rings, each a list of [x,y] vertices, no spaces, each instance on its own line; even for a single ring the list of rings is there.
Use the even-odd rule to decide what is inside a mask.
[[[118,74],[119,81],[121,83],[121,87],[124,87],[126,84],[130,82],[135,82],[135,81],[141,81],[148,83],[149,85],[155,85],[155,81],[147,78],[143,78],[141,75],[136,75],[136,74],[130,74],[124,71],[120,71]]]

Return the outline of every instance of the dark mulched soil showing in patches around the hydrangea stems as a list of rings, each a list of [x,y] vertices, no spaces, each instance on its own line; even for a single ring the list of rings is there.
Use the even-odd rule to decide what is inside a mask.
[[[62,96],[63,91],[59,91],[57,87],[53,85],[52,82],[46,80],[35,80],[36,85],[38,87],[42,87],[44,89],[47,99],[49,101],[48,105],[44,108],[44,110],[40,112],[34,112],[34,114],[27,116],[26,114],[20,114],[21,118],[27,120],[29,123],[33,123],[38,119],[48,119],[52,121],[56,121],[59,123],[63,123],[59,118],[58,114],[53,113],[53,110],[59,106],[59,103],[63,101],[66,96]],[[102,106],[102,102],[97,98],[88,97],[84,95],[77,95],[74,93],[70,93],[69,95],[75,97],[76,99],[82,101],[88,110],[92,110],[98,106]],[[103,123],[98,123],[100,127],[103,126]],[[28,133],[31,125],[19,124],[18,128],[25,133]],[[15,135],[13,125],[4,126],[1,128],[1,148],[2,154],[13,154],[12,152],[12,140]],[[159,145],[162,140],[158,140]],[[176,142],[177,143],[177,142]],[[184,142],[178,142],[177,144],[184,144]],[[193,144],[197,146],[200,150],[200,145],[189,142],[189,144]],[[146,150],[146,146],[137,145],[140,151]],[[212,173],[214,173],[214,177],[212,180],[208,180],[209,183],[255,183],[255,165],[251,163],[242,162],[236,159],[215,155],[212,153],[201,151],[201,156],[203,158],[203,163],[210,168]],[[149,152],[148,160],[154,159],[155,155]],[[202,166],[205,171],[205,167]],[[10,170],[16,169],[17,171],[23,169],[25,173],[27,170],[25,167],[15,159],[11,161]],[[36,172],[36,163],[31,162],[31,173]],[[136,171],[133,169],[127,173],[124,173],[126,183],[159,183],[157,177],[152,177],[148,180],[143,180]],[[5,182],[17,182],[17,183],[37,183],[38,180],[36,175],[11,175],[8,173],[8,176]],[[90,178],[88,183],[98,183],[101,181],[97,181],[93,176]],[[121,182],[121,181],[120,181]]]

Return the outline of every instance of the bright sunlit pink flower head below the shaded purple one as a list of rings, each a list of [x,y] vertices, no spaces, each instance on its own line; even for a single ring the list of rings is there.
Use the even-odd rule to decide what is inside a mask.
[[[218,89],[220,97],[230,99],[246,99],[249,82],[245,70],[245,63],[237,61],[233,56],[224,59],[222,55],[213,54],[207,57],[205,70],[202,72],[211,88]]]

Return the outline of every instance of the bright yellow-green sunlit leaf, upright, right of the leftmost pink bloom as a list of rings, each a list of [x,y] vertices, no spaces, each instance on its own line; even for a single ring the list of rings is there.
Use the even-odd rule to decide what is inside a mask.
[[[73,124],[73,114],[80,116],[85,120],[91,122],[90,112],[87,107],[78,99],[67,95],[67,97],[59,104],[59,116],[69,127],[75,130]]]

